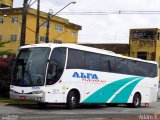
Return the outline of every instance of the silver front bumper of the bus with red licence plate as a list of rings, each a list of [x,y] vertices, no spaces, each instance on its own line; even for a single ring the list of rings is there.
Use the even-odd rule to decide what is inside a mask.
[[[10,98],[16,100],[30,100],[36,102],[45,102],[45,94],[20,94],[10,91]]]

